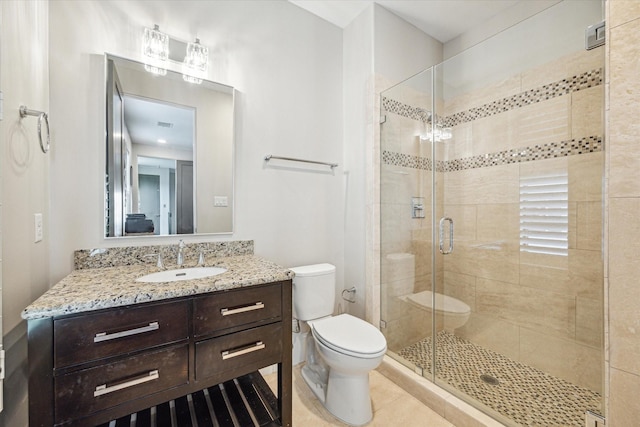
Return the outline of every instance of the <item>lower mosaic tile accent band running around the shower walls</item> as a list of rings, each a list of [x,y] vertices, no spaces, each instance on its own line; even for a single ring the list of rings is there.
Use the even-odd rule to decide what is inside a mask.
[[[599,136],[589,136],[581,139],[570,139],[567,141],[535,145],[533,147],[513,148],[511,150],[480,154],[462,159],[436,161],[436,172],[454,172],[502,166],[578,154],[596,153],[599,151],[602,151],[602,138]],[[429,158],[395,153],[387,150],[382,152],[382,162],[391,166],[402,166],[428,171],[432,170],[433,167],[433,162]]]

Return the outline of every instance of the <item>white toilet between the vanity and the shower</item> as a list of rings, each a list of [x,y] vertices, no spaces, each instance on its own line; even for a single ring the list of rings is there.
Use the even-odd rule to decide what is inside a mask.
[[[332,316],[335,266],[315,264],[291,271],[294,315],[311,328],[302,377],[336,418],[355,426],[366,424],[373,416],[369,371],[380,365],[387,341],[364,320],[349,314]]]

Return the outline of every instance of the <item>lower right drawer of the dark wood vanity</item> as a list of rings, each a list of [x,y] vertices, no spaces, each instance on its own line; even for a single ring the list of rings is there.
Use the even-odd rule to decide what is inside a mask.
[[[280,360],[282,327],[274,323],[196,343],[196,379],[247,368],[255,371]],[[241,375],[241,374],[238,374]]]

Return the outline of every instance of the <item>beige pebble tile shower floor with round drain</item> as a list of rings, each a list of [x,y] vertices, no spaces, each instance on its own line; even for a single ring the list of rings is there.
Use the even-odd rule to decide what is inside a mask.
[[[431,337],[398,354],[431,373]],[[584,426],[584,413],[600,413],[601,396],[441,331],[436,337],[438,379],[523,426]],[[481,379],[488,375],[498,384]],[[490,381],[491,382],[491,381]]]

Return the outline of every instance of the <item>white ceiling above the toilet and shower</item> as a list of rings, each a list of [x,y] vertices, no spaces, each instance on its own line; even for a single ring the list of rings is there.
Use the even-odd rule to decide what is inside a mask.
[[[289,0],[344,28],[373,3],[446,43],[522,0]]]

